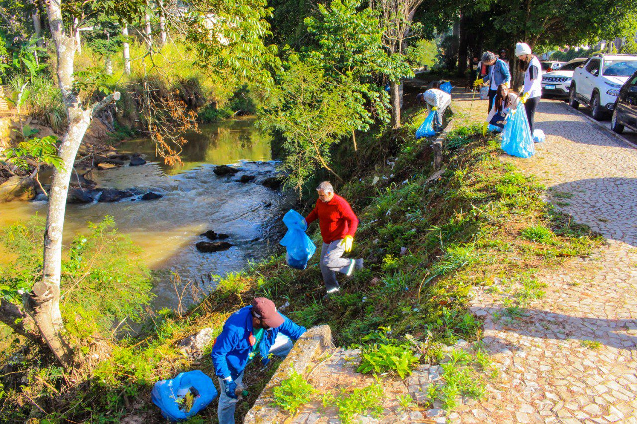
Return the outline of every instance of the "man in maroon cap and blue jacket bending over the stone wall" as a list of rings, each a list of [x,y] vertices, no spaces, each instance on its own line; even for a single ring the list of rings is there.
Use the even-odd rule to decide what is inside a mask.
[[[220,424],[234,424],[238,385],[242,386],[243,370],[257,356],[268,364],[269,355],[285,357],[305,327],[278,313],[272,300],[257,297],[250,306],[242,307],[225,322],[215,340],[210,357],[219,378]]]

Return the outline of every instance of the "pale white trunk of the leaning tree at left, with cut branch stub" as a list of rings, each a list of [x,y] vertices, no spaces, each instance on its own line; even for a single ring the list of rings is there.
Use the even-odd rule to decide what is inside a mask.
[[[60,312],[60,281],[62,261],[62,229],[69,180],[73,162],[82,143],[92,116],[107,104],[117,101],[119,93],[113,93],[92,108],[83,108],[73,91],[73,58],[78,48],[75,34],[69,36],[64,29],[60,0],[47,2],[47,15],[57,55],[57,80],[66,107],[68,127],[62,136],[59,156],[63,167],[55,169],[48,198],[47,223],[44,234],[44,262],[42,279],[25,295],[24,306],[33,318],[48,347],[65,367],[73,365],[73,351],[63,337],[64,325]],[[76,26],[74,27],[74,31]]]

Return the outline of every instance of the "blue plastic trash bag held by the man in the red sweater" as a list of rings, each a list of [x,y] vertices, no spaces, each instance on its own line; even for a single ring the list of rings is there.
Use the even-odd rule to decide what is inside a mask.
[[[287,232],[279,243],[285,246],[285,261],[292,268],[305,269],[308,260],[317,249],[310,237],[305,234],[308,224],[303,215],[294,209],[290,209],[283,216],[283,223],[287,227]]]

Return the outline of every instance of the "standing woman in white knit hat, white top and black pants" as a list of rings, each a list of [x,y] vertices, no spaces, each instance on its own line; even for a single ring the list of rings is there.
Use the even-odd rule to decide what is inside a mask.
[[[529,121],[529,129],[533,135],[535,127],[535,110],[540,104],[542,97],[542,66],[540,59],[531,51],[531,47],[526,43],[515,45],[515,55],[520,59],[520,71],[524,72],[524,88],[520,101],[524,104],[526,118]]]

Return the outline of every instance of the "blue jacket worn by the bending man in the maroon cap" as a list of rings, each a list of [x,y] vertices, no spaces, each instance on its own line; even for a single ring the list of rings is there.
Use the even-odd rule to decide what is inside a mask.
[[[283,323],[276,329],[265,330],[259,344],[261,363],[264,365],[268,364],[268,353],[279,332],[290,337],[292,341],[296,341],[305,332],[305,327],[295,324],[283,314],[281,316]],[[217,376],[222,379],[232,377],[234,380],[243,372],[248,365],[248,355],[252,351],[249,337],[253,331],[252,306],[242,307],[227,319],[210,353]]]

